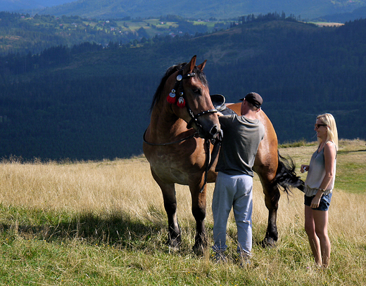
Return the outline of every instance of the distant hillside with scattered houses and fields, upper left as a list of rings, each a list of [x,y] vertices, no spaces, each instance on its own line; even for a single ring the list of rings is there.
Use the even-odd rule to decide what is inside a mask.
[[[229,27],[231,22],[194,21],[175,15],[144,20],[96,20],[79,16],[50,16],[0,12],[0,56],[40,53],[51,46],[73,46],[85,41],[108,46],[144,41],[156,35],[194,35]]]

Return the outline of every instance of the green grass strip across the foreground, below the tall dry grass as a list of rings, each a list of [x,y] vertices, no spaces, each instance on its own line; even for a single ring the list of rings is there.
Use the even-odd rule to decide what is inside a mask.
[[[17,216],[14,216],[14,213]],[[203,256],[191,252],[191,226],[183,225],[184,245],[170,252],[165,226],[140,222],[134,231],[113,216],[83,219],[80,214],[1,207],[1,285],[362,285],[366,283],[365,245],[334,240],[332,266],[319,271],[313,265],[303,228],[294,226],[277,247],[263,249],[254,243],[251,266],[241,268],[235,235],[229,236],[227,264],[215,264],[210,249]],[[51,219],[56,218],[56,219]],[[33,235],[20,226],[31,223]],[[75,223],[77,221],[77,223]],[[114,222],[113,222],[114,221]],[[67,227],[60,228],[65,223]],[[136,223],[136,222],[135,222]],[[119,235],[107,240],[103,231],[115,224]],[[8,228],[4,228],[8,226]],[[136,227],[138,226],[138,227]],[[39,230],[54,228],[42,237]],[[84,231],[80,231],[80,229]],[[261,225],[255,230],[261,231]],[[89,229],[87,231],[86,229]],[[255,236],[263,233],[256,231]],[[212,229],[208,228],[208,232]],[[42,233],[42,231],[41,231]],[[77,234],[78,233],[78,234]],[[256,242],[256,240],[254,240]]]

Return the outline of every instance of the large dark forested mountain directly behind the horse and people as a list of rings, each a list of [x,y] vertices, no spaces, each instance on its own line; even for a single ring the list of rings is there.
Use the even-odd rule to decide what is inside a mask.
[[[317,27],[268,14],[213,34],[55,46],[0,58],[0,156],[102,159],[141,153],[165,70],[208,59],[211,93],[264,98],[280,142],[316,140],[331,112],[340,138],[366,138],[366,20]]]

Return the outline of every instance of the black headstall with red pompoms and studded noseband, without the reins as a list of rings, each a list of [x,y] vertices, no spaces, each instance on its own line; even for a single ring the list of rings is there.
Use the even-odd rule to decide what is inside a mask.
[[[192,124],[195,123],[197,126],[197,129],[202,130],[203,126],[198,122],[198,117],[200,117],[202,115],[210,114],[210,113],[215,113],[218,110],[216,108],[214,108],[214,109],[210,109],[210,110],[206,110],[201,113],[198,113],[197,115],[194,115],[194,112],[191,110],[191,108],[189,108],[187,99],[184,97],[183,79],[188,79],[189,77],[194,77],[194,76],[196,76],[196,73],[194,73],[194,72],[183,75],[183,69],[179,70],[178,75],[177,75],[177,80],[175,81],[174,89],[172,89],[172,92],[169,93],[167,100],[169,103],[175,103],[175,101],[177,101],[177,106],[179,106],[179,108],[184,108],[184,106],[187,108],[189,117],[191,117],[191,120],[187,124],[187,129],[191,129]],[[176,92],[179,93],[178,100],[175,96]]]

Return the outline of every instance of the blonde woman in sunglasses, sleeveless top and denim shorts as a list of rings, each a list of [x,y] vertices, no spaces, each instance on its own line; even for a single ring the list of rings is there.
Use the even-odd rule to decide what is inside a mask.
[[[328,209],[336,176],[338,132],[333,115],[319,115],[315,123],[317,150],[310,164],[301,165],[308,171],[305,180],[305,231],[318,266],[329,266],[331,245],[328,237]]]

